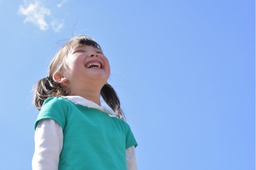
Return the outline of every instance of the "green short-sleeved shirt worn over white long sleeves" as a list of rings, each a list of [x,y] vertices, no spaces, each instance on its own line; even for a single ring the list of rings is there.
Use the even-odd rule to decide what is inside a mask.
[[[124,120],[61,97],[44,101],[35,129],[43,119],[55,120],[63,130],[59,170],[125,170],[125,150],[138,145]]]

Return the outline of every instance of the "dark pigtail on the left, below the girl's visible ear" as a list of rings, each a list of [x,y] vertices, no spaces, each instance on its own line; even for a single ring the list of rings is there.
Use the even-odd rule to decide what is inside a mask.
[[[33,104],[38,110],[41,110],[44,100],[49,97],[62,95],[67,96],[67,92],[59,83],[56,83],[52,77],[48,76],[40,79],[36,83]]]

